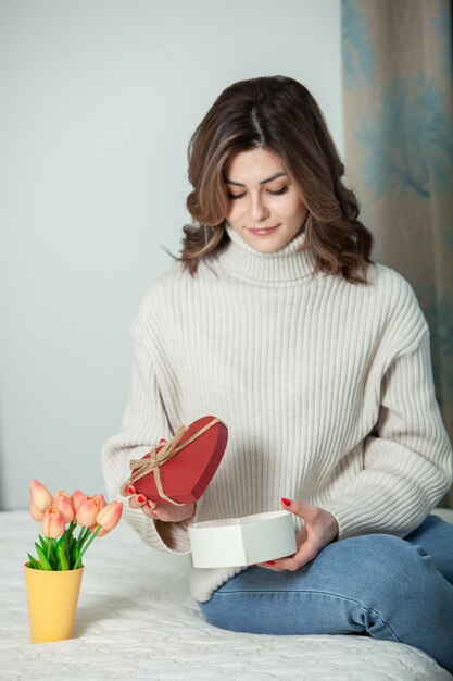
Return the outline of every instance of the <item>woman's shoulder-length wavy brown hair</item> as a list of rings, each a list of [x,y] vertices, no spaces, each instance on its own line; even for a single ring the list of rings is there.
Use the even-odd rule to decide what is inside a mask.
[[[202,258],[226,246],[224,170],[231,154],[257,147],[281,159],[309,209],[300,250],[311,249],[314,274],[341,273],[348,282],[367,283],[374,238],[357,220],[354,193],[342,183],[344,165],[324,115],[301,83],[280,75],[234,83],[193,133],[188,147],[193,190],[186,201],[193,222],[184,226],[180,257],[172,257],[194,276]]]

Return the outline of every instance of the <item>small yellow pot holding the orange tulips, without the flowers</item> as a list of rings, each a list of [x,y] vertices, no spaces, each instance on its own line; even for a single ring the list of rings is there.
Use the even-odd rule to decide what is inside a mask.
[[[84,568],[33,570],[25,564],[32,643],[73,637]]]

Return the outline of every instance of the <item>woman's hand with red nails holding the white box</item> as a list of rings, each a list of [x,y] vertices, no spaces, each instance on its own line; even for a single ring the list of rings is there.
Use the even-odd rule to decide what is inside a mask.
[[[289,499],[285,499],[288,502]],[[267,562],[259,562],[262,568],[270,570],[291,570],[306,565],[320,552],[322,548],[334,542],[338,536],[337,519],[318,506],[302,504],[302,502],[290,502],[289,505],[281,500],[285,510],[299,516],[303,520],[303,528],[295,535],[297,552],[286,558],[277,558]]]

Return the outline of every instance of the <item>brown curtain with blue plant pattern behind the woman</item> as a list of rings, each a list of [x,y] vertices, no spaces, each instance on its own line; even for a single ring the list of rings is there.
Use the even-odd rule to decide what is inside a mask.
[[[451,0],[342,0],[341,23],[349,182],[375,259],[412,284],[427,318],[453,441]]]

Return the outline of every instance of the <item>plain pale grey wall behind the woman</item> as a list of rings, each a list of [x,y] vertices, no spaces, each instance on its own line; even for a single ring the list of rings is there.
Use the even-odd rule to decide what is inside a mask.
[[[177,253],[187,144],[230,83],[284,74],[342,151],[339,0],[2,0],[0,503],[103,490],[127,329]]]

